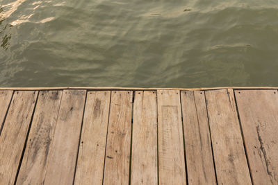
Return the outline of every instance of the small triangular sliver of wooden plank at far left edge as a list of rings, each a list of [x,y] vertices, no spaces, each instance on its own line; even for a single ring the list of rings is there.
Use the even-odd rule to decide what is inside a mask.
[[[6,113],[8,111],[8,106],[10,105],[10,100],[12,99],[13,91],[0,91],[0,134],[3,127],[3,121],[5,119]]]

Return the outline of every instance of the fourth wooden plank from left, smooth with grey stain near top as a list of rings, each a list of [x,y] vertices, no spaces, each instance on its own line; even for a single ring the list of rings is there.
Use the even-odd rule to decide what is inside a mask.
[[[64,90],[44,184],[72,184],[86,91]]]

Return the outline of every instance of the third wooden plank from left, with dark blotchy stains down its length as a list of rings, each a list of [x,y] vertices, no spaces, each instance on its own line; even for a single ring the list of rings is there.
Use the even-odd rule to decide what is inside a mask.
[[[17,184],[42,184],[63,91],[40,91]]]

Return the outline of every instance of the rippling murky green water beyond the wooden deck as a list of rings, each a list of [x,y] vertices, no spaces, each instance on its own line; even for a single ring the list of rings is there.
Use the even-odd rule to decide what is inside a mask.
[[[0,3],[0,87],[278,86],[277,0]]]

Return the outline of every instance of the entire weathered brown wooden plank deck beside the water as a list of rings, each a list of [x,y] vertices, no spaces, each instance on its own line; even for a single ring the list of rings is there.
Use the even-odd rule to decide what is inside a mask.
[[[0,184],[278,184],[278,91],[0,90]]]

